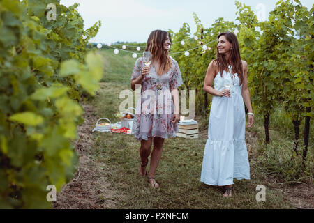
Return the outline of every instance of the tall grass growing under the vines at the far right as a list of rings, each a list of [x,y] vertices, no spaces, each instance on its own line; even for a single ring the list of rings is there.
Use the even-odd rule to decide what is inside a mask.
[[[268,176],[276,176],[285,183],[311,183],[314,174],[313,128],[310,129],[306,169],[302,166],[304,120],[300,125],[298,153],[293,150],[294,126],[284,109],[277,107],[270,116],[270,144],[264,144],[263,118],[255,116],[253,129],[260,135],[257,141],[257,167]],[[312,121],[313,126],[313,121]]]

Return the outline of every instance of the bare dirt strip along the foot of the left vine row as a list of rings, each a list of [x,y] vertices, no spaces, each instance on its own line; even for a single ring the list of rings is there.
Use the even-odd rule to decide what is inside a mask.
[[[115,208],[112,198],[114,191],[109,189],[105,178],[105,164],[93,162],[94,141],[91,139],[97,119],[91,115],[91,105],[82,105],[84,109],[84,123],[77,129],[80,137],[75,142],[77,153],[80,155],[80,166],[73,180],[66,184],[57,194],[57,201],[52,208],[57,209],[84,209],[84,208]]]

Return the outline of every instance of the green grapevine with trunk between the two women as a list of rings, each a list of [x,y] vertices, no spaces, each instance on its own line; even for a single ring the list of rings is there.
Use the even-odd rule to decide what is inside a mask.
[[[179,67],[182,73],[182,78],[186,89],[195,90],[195,114],[206,114],[208,111],[204,111],[204,78],[207,72],[207,66],[210,61],[215,59],[216,53],[216,37],[221,31],[227,31],[235,25],[233,22],[226,22],[223,18],[218,18],[212,27],[205,29],[200,19],[194,13],[194,20],[197,26],[197,31],[193,36],[197,36],[197,40],[194,38],[186,39],[186,36],[190,36],[190,26],[184,23],[181,29],[177,33],[170,30],[172,36],[172,43],[170,55],[178,61]],[[181,40],[185,41],[184,45],[181,45]],[[207,44],[209,43],[209,44]],[[202,46],[206,45],[210,47],[210,50],[202,49]],[[197,48],[197,49],[194,49]],[[182,52],[191,50],[189,56],[185,56]],[[181,52],[179,54],[172,54],[172,52]]]

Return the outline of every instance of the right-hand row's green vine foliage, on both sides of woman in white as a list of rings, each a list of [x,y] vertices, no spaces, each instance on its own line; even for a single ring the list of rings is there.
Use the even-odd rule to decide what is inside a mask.
[[[281,103],[287,114],[293,118],[313,116],[306,113],[306,107],[313,107],[313,8],[309,11],[295,1],[278,1],[276,8],[269,13],[269,20],[258,22],[251,7],[236,1],[237,21],[239,24],[218,18],[210,28],[204,29],[194,14],[199,40],[191,38],[185,45],[180,40],[190,36],[190,26],[186,23],[177,32],[172,33],[172,52],[184,52],[209,43],[211,50],[202,52],[202,48],[190,51],[190,56],[174,54],[184,79],[190,89],[202,90],[207,66],[216,58],[216,37],[225,31],[237,29],[237,38],[241,57],[248,63],[248,86],[251,92],[253,108],[264,116],[274,112]],[[201,30],[204,32],[201,34]],[[171,52],[170,52],[171,53]],[[197,102],[204,104],[204,100]],[[197,106],[196,113],[203,109]],[[313,109],[312,109],[313,111]]]

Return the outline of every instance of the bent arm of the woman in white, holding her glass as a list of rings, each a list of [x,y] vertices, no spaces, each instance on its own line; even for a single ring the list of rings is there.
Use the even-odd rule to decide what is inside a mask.
[[[210,93],[211,95],[215,95],[219,97],[223,97],[223,96],[230,97],[229,90],[218,91],[211,86],[213,84],[215,75],[216,75],[216,64],[214,63],[214,61],[211,61],[211,63],[209,63],[209,66],[207,68],[206,77],[204,80],[204,87],[203,87],[204,91],[206,91],[207,93]]]

